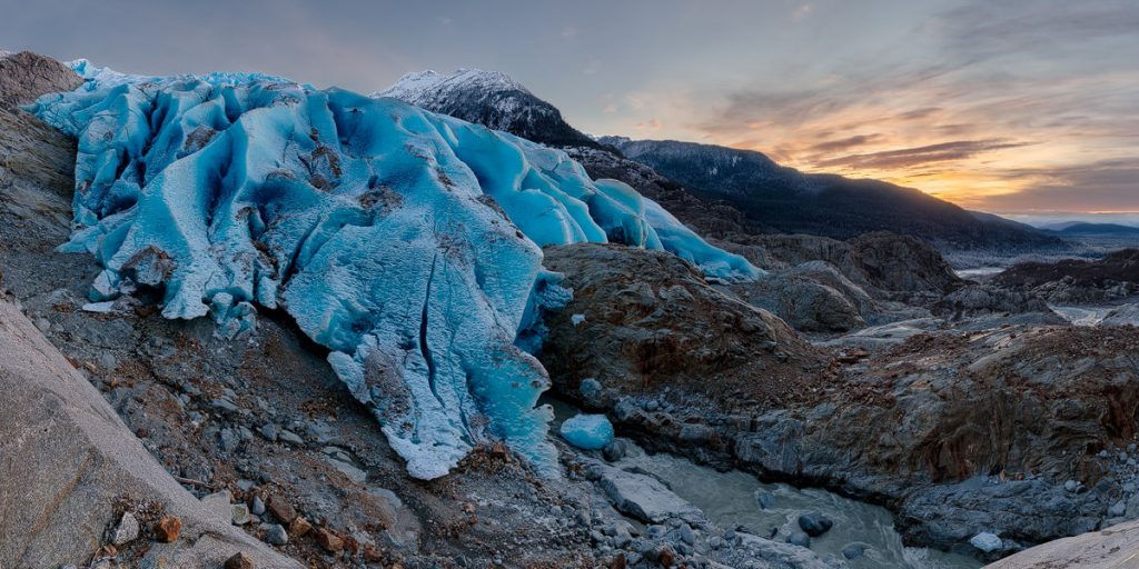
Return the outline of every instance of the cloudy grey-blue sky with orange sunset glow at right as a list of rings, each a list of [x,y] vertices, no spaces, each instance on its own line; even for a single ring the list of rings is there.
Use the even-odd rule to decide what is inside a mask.
[[[501,71],[577,129],[1023,220],[1139,213],[1137,0],[0,0],[0,49],[371,92]]]

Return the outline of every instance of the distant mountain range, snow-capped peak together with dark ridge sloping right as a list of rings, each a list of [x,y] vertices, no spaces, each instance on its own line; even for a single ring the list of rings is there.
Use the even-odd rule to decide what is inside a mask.
[[[731,223],[702,218],[703,228],[728,225],[747,233],[809,233],[846,239],[874,231],[919,237],[943,250],[1033,250],[1063,248],[1056,234],[990,214],[969,212],[919,190],[877,180],[805,174],[780,166],[768,156],[693,142],[630,140],[581,133],[549,102],[509,76],[477,69],[451,75],[418,72],[374,94],[393,97],[428,110],[481,123],[492,129],[570,150],[591,174],[603,172],[638,187],[648,166],[657,187],[683,187],[678,204],[691,208],[694,195],[707,209],[727,212]],[[574,150],[589,149],[589,151]],[[612,156],[601,156],[611,154]],[[722,205],[730,207],[724,208]],[[669,207],[669,204],[665,204]],[[718,236],[722,237],[722,236]]]

